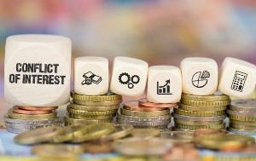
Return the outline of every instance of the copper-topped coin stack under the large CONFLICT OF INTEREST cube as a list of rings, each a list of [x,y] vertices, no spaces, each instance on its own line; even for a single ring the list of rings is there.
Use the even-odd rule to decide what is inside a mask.
[[[14,106],[4,116],[9,132],[21,133],[30,129],[60,125],[57,106]]]

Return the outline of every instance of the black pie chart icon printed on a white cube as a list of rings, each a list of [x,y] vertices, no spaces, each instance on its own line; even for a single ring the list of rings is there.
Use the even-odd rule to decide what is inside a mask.
[[[195,72],[192,77],[192,84],[196,88],[203,88],[208,83],[208,78],[210,78],[210,72],[203,71],[203,72]]]

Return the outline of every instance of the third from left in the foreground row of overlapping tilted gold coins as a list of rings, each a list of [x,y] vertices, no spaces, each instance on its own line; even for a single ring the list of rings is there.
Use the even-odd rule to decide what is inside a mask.
[[[101,138],[103,135],[109,135],[115,131],[112,123],[90,124],[84,129],[73,132],[73,143],[92,141]]]

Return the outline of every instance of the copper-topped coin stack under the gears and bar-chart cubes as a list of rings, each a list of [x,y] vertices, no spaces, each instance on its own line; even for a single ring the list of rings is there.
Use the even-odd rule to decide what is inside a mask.
[[[147,99],[128,101],[119,109],[117,123],[135,128],[166,129],[171,123],[170,108],[177,103],[153,103]]]

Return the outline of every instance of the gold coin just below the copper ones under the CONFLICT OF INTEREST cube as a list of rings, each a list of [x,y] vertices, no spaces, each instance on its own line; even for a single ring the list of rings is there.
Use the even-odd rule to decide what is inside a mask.
[[[57,117],[56,112],[48,113],[48,114],[41,114],[41,115],[26,115],[26,114],[19,114],[9,110],[8,112],[9,118],[15,119],[53,119]]]

